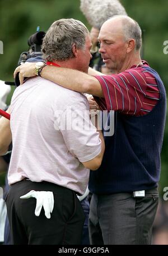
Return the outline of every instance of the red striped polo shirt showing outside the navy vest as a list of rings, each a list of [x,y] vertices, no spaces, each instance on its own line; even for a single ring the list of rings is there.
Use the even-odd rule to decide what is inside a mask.
[[[160,93],[156,78],[143,69],[148,66],[132,66],[119,74],[96,75],[105,98],[95,100],[101,110],[115,110],[127,115],[141,116],[149,113],[157,104]]]

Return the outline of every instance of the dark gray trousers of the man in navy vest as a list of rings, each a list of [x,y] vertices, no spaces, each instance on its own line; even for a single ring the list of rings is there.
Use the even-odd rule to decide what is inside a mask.
[[[151,244],[157,206],[157,188],[147,190],[145,197],[133,197],[132,193],[94,194],[89,216],[91,244]]]

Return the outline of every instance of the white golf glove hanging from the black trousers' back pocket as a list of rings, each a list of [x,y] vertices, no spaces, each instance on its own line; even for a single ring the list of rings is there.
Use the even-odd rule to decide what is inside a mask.
[[[46,218],[50,219],[51,215],[50,213],[53,212],[54,208],[54,195],[51,191],[34,191],[31,190],[26,195],[21,196],[21,199],[28,199],[30,197],[36,198],[36,209],[35,209],[35,215],[39,216],[42,207],[44,207],[44,212]]]

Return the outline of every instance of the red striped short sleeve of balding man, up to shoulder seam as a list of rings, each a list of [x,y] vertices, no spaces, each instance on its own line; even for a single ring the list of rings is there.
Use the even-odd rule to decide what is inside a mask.
[[[146,96],[147,84],[136,70],[95,77],[104,93],[104,98],[95,97],[102,110],[114,110],[128,115],[139,114]]]

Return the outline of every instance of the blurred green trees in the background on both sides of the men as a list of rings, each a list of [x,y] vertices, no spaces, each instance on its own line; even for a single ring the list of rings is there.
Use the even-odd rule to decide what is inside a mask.
[[[144,30],[143,59],[160,74],[168,91],[168,54],[164,41],[168,41],[168,6],[166,0],[121,0],[130,17],[137,20]],[[46,31],[54,20],[70,18],[81,20],[88,28],[80,11],[80,0],[0,0],[0,79],[13,80],[13,70],[21,52],[27,51],[27,39],[36,32],[36,27]],[[14,89],[14,88],[13,88]],[[8,98],[10,102],[10,98]],[[168,123],[166,123],[162,148],[162,172],[160,191],[168,186]],[[155,145],[153,144],[153,147]]]

